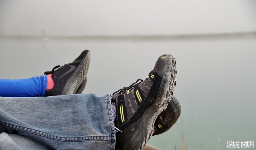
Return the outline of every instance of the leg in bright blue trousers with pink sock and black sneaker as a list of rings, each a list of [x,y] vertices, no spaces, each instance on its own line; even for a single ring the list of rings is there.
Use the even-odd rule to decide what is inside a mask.
[[[0,79],[0,96],[33,97],[81,94],[86,86],[90,51],[84,50],[72,63],[56,66],[46,75],[29,79]],[[51,86],[51,87],[49,87]]]

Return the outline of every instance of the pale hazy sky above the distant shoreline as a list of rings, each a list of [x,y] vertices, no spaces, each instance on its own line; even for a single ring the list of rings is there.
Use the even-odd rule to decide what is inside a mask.
[[[0,0],[0,35],[256,31],[255,0]]]

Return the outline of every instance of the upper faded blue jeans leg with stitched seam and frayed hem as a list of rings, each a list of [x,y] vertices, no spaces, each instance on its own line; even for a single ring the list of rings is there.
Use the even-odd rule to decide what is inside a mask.
[[[52,149],[114,149],[110,94],[0,97],[1,132],[19,134]]]

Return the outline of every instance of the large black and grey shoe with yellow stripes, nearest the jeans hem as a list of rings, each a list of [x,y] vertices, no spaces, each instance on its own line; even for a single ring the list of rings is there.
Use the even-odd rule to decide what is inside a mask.
[[[160,56],[148,76],[112,95],[116,104],[116,149],[142,149],[148,142],[155,120],[166,109],[176,85],[175,58]]]

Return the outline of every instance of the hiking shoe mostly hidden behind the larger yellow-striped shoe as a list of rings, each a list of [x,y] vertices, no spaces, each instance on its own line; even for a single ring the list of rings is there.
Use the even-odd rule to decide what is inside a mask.
[[[177,122],[180,113],[180,102],[172,96],[167,108],[156,118],[153,136],[168,131]]]

